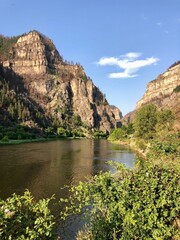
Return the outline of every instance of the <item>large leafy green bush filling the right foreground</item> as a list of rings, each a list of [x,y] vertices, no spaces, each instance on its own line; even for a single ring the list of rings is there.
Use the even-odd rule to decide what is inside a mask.
[[[134,171],[117,169],[72,186],[71,197],[60,200],[64,217],[86,216],[78,239],[179,239],[179,173],[145,162]]]

